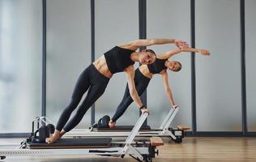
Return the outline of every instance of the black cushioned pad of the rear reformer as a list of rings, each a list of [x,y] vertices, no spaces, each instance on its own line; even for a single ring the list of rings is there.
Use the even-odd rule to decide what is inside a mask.
[[[96,131],[125,131],[125,130],[132,130],[134,126],[115,126],[113,128],[106,128],[106,127],[98,127]],[[151,130],[150,126],[142,126],[139,130]]]

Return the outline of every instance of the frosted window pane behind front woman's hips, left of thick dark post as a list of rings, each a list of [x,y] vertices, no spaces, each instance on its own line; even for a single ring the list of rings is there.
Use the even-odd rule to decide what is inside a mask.
[[[137,0],[97,0],[95,2],[96,57],[139,38],[139,2]],[[134,64],[138,66],[138,64]],[[126,89],[126,75],[117,73],[109,80],[105,93],[96,101],[96,121],[104,115],[113,117],[117,105],[121,102]],[[139,117],[136,104],[130,104],[126,113],[117,121],[117,125],[132,125]]]

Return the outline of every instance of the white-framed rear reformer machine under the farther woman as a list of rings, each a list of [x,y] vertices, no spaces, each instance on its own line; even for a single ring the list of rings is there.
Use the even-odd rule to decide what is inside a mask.
[[[139,130],[136,136],[143,136],[143,137],[151,137],[151,136],[164,136],[169,137],[175,143],[181,143],[182,138],[184,138],[184,130],[189,130],[190,128],[187,126],[178,126],[177,129],[170,128],[171,123],[173,122],[173,118],[176,116],[177,112],[180,108],[170,109],[169,113],[164,117],[164,121],[160,125],[159,129],[151,130],[148,126],[141,130]],[[126,137],[130,134],[130,130],[128,130],[127,126],[124,127],[124,130],[117,128],[117,129],[95,129],[91,126],[90,129],[75,129],[71,130],[65,136],[67,137]],[[103,131],[102,131],[103,130]]]

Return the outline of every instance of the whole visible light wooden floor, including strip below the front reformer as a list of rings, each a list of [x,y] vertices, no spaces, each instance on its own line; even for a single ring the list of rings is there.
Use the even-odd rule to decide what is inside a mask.
[[[7,139],[11,143],[11,139]],[[15,139],[12,139],[15,141]],[[0,139],[0,145],[4,143]],[[16,140],[17,141],[17,140]],[[164,146],[159,147],[160,154],[153,161],[159,162],[208,162],[208,161],[251,161],[256,162],[256,138],[210,138],[186,137],[183,143],[173,143],[164,139]],[[1,147],[0,147],[1,149]],[[43,156],[43,157],[6,157],[4,161],[54,161],[54,162],[101,162],[134,161],[129,156],[124,159],[101,156]]]

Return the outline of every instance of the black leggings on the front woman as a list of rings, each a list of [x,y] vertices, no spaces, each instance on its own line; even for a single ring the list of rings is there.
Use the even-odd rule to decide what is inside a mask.
[[[96,100],[105,92],[105,88],[107,87],[108,83],[109,78],[100,74],[94,65],[90,65],[83,70],[82,74],[79,75],[77,83],[75,84],[75,89],[72,94],[70,104],[67,105],[66,109],[64,109],[61,117],[58,120],[56,130],[61,131],[63,129],[68,132],[77,126],[82,120],[84,114],[87,112],[87,109],[89,109],[92,104],[95,103]],[[83,100],[83,103],[79,105],[79,109],[75,113],[75,116],[72,117],[68,122],[71,113],[75,110],[85,92],[87,92],[87,96]]]

